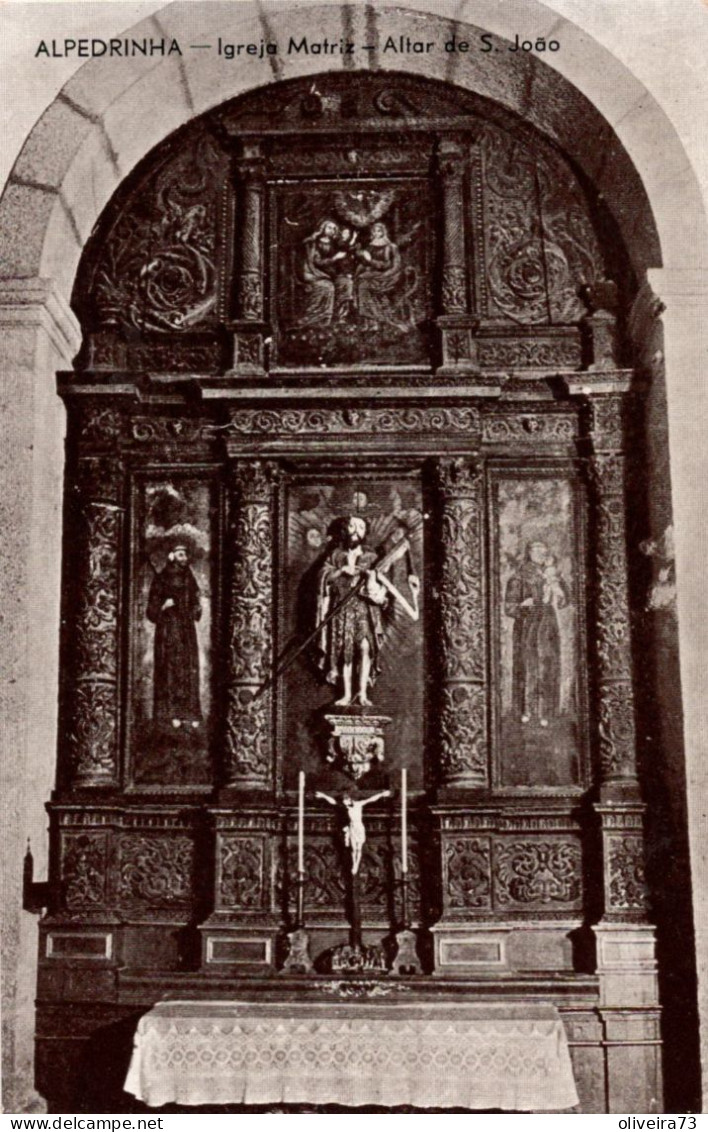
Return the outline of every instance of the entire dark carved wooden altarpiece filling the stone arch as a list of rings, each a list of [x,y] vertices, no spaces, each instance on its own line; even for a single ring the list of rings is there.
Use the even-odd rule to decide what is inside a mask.
[[[638,1052],[633,1110],[659,1095],[625,560],[632,280],[608,232],[594,190],[501,106],[375,72],[212,111],[106,208],[60,378],[53,1104],[80,1077],[76,1028],[83,1056],[161,995],[231,993],[540,996],[587,1110],[619,1103]],[[409,601],[420,583],[417,619],[382,599],[366,629],[370,709],[335,706],[319,640],[295,655],[349,517],[373,560],[406,537],[389,577]],[[364,773],[329,717],[378,728]],[[424,974],[342,983],[347,860],[315,791],[393,790],[366,814],[358,878],[364,940],[385,950],[402,767]],[[281,968],[300,770],[298,977]]]

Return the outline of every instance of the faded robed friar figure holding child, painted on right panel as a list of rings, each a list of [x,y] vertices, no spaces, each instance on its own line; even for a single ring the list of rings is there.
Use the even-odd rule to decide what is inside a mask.
[[[513,618],[512,713],[523,726],[547,728],[561,711],[561,635],[556,610],[570,601],[556,558],[545,542],[526,548],[526,558],[506,583],[504,612]]]

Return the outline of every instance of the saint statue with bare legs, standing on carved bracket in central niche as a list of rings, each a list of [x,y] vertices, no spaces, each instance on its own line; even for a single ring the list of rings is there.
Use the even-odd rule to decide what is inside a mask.
[[[411,600],[387,576],[400,557],[410,557],[408,540],[377,560],[365,549],[367,523],[359,515],[338,524],[336,544],[327,555],[317,580],[317,644],[321,667],[329,684],[341,687],[338,707],[358,703],[370,707],[369,688],[379,667],[385,641],[384,614],[393,601],[417,621],[420,581],[409,567]],[[355,689],[356,683],[356,689]]]

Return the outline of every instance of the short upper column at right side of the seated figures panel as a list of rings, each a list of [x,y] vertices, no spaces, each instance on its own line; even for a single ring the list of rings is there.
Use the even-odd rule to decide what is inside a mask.
[[[443,263],[441,331],[443,365],[438,372],[470,372],[477,368],[476,343],[468,305],[466,254],[464,173],[466,152],[457,138],[442,138],[437,147],[437,171],[443,197]]]

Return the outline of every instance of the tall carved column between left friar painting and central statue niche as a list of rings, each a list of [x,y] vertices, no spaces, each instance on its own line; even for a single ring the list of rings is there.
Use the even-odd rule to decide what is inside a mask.
[[[274,466],[253,460],[231,468],[231,593],[224,773],[228,786],[273,784]]]

